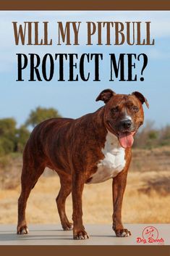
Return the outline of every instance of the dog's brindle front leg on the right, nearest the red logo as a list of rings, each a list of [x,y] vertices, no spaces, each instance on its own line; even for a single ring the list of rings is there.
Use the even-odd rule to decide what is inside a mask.
[[[124,196],[124,190],[127,184],[127,171],[119,173],[118,176],[113,178],[112,189],[113,189],[113,229],[116,236],[130,236],[131,233],[122,225],[122,202]]]

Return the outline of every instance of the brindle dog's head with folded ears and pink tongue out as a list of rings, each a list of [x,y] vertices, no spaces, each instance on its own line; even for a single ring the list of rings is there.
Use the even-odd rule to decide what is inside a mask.
[[[106,89],[95,99],[96,102],[99,100],[106,104],[103,121],[107,130],[117,136],[122,147],[131,147],[133,136],[143,125],[143,103],[149,108],[147,99],[138,91],[127,95]]]

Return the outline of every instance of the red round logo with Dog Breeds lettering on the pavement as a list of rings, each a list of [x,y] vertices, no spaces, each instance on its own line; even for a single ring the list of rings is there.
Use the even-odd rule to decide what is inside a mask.
[[[163,238],[158,237],[158,229],[153,226],[145,227],[142,236],[137,237],[137,244],[164,244]]]

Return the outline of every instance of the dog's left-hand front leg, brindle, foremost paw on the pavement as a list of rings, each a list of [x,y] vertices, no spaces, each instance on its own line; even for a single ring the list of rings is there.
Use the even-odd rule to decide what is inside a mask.
[[[84,178],[82,173],[74,173],[72,177],[72,220],[73,238],[88,239],[88,234],[82,224],[82,191],[84,188]]]

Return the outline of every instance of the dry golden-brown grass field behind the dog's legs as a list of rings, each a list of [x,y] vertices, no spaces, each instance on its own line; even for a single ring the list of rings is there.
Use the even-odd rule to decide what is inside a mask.
[[[15,160],[16,161],[16,160]],[[1,175],[0,223],[17,223],[17,198],[20,195],[18,159],[11,171]],[[6,170],[7,171],[7,170]],[[17,175],[14,176],[14,172]],[[2,170],[0,170],[2,173]],[[11,173],[11,174],[10,174]],[[48,171],[51,174],[51,171]],[[55,198],[59,178],[54,173],[41,176],[27,203],[28,223],[59,223]],[[170,223],[170,148],[135,149],[124,194],[124,223]],[[72,219],[72,199],[67,199],[67,215]],[[111,223],[111,180],[85,185],[84,223]]]

